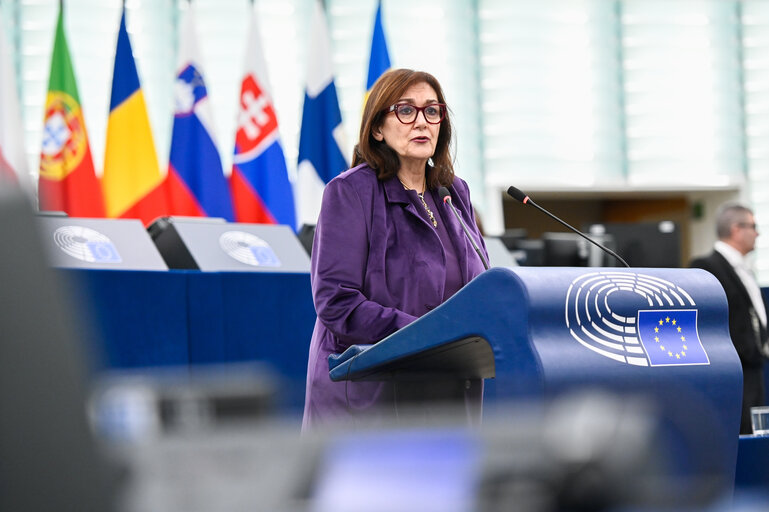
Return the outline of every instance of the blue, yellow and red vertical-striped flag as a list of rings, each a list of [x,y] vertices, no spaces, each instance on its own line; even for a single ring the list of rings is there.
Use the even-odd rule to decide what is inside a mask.
[[[141,219],[148,225],[168,214],[161,186],[163,176],[126,30],[125,9],[115,52],[106,146],[101,181],[107,217]]]

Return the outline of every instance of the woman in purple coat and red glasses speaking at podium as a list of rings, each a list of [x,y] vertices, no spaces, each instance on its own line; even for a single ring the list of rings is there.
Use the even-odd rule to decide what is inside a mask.
[[[305,429],[375,406],[386,409],[393,401],[391,383],[332,382],[330,354],[378,342],[484,269],[438,195],[440,187],[448,188],[485,252],[467,184],[454,176],[451,131],[443,91],[429,73],[392,70],[371,89],[353,167],[326,185],[313,241],[310,277],[318,318],[310,344]],[[399,385],[399,397],[419,396],[411,387]],[[445,395],[463,393],[450,389]]]

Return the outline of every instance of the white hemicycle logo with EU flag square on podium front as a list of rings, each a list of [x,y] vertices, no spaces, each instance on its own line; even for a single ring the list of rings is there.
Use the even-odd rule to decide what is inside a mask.
[[[710,364],[697,333],[694,299],[648,274],[582,274],[566,292],[566,327],[587,349],[634,366]]]

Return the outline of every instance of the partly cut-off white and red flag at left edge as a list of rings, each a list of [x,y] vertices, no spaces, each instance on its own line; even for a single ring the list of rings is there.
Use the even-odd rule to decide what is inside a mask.
[[[13,56],[5,40],[3,20],[0,19],[0,186],[3,183],[21,185],[32,195],[24,151],[24,129],[16,88]]]

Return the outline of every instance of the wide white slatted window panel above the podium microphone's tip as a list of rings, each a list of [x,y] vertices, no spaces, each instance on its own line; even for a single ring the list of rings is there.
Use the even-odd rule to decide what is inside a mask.
[[[487,182],[624,181],[615,3],[481,0],[479,18]]]

